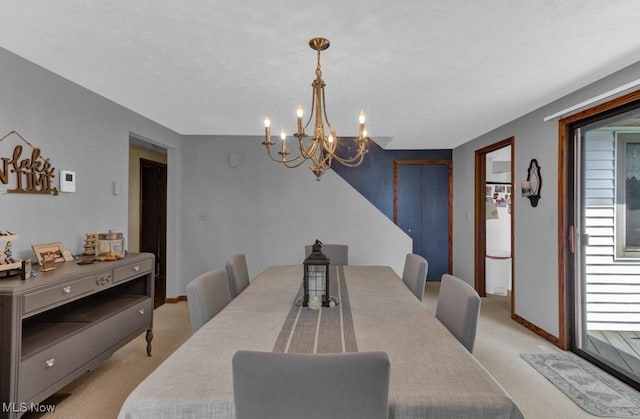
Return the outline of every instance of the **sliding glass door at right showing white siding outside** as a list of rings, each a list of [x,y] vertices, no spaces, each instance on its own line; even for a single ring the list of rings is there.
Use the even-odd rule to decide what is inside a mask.
[[[569,135],[571,348],[640,388],[640,107],[579,121]]]

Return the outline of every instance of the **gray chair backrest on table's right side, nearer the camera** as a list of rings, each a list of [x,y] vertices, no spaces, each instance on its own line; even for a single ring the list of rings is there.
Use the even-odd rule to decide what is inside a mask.
[[[469,352],[473,352],[479,316],[480,296],[476,290],[460,278],[442,275],[436,317]]]

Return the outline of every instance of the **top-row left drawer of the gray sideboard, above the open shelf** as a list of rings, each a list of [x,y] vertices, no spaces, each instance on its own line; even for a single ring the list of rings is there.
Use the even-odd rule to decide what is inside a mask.
[[[86,276],[55,287],[35,291],[23,296],[22,313],[29,314],[45,307],[55,306],[73,300],[95,290],[95,276]]]

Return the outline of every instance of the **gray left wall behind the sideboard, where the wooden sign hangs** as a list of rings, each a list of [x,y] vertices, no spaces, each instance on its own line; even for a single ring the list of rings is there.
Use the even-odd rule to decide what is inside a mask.
[[[126,233],[130,134],[169,149],[168,217],[175,249],[180,136],[1,48],[0,63],[0,136],[15,130],[39,147],[56,169],[54,186],[60,169],[75,171],[77,178],[75,193],[0,194],[0,227],[19,234],[14,254],[32,257],[32,244],[48,242],[79,253],[87,232]],[[1,142],[0,157],[8,157],[15,144]],[[0,192],[12,187],[1,184]],[[167,275],[174,281],[177,260],[171,256]]]

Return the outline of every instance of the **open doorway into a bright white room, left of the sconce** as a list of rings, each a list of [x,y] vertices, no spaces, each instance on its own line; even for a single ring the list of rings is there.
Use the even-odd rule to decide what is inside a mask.
[[[514,137],[475,152],[475,272],[474,286],[481,297],[511,290],[513,316],[513,156]],[[497,164],[500,162],[500,164]],[[491,275],[487,284],[487,270]],[[487,287],[489,285],[489,287]],[[506,288],[506,289],[505,289]]]

